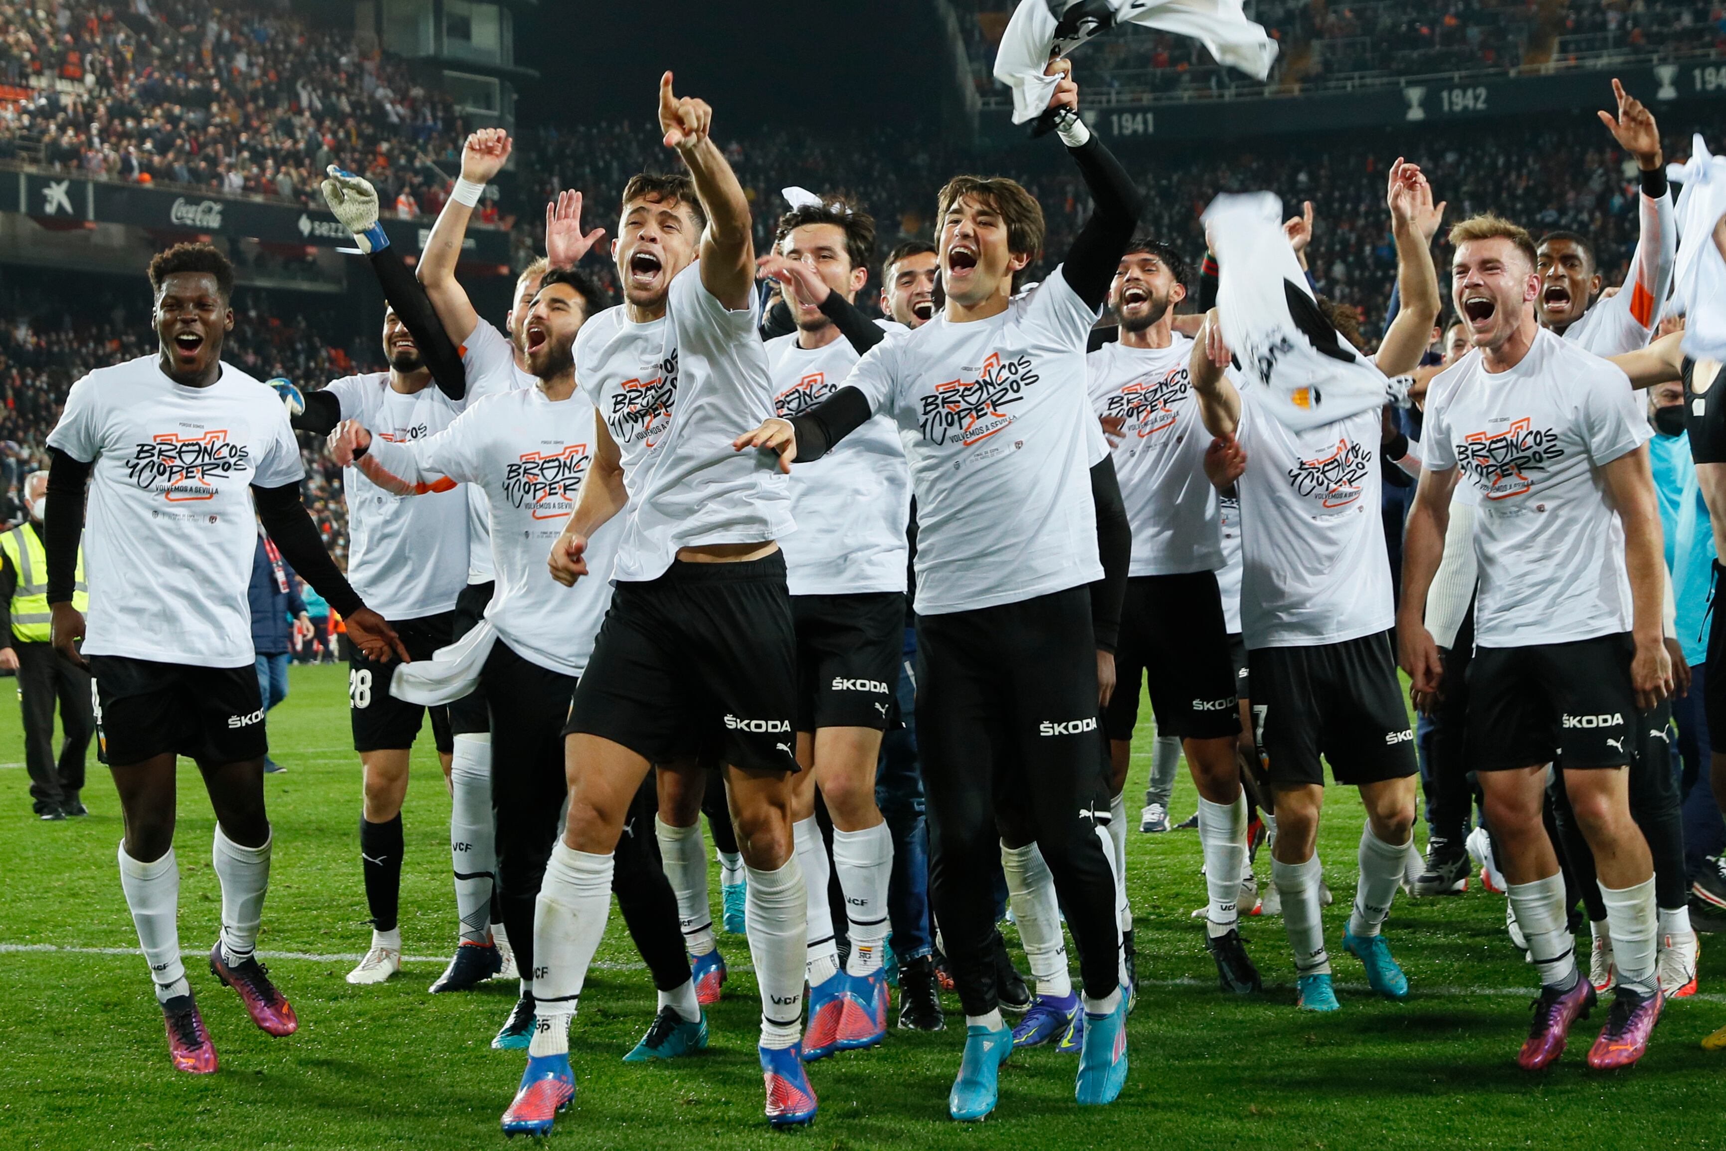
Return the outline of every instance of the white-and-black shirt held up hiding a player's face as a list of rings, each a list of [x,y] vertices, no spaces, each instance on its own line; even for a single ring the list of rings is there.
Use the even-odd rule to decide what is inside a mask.
[[[1224,193],[1203,221],[1217,254],[1222,338],[1239,361],[1241,387],[1263,388],[1260,399],[1296,431],[1396,402],[1396,385],[1319,312],[1282,235],[1279,197]]]

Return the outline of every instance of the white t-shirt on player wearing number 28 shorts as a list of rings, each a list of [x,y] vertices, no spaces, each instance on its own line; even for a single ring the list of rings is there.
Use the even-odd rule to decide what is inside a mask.
[[[390,388],[390,373],[342,376],[328,388],[342,419],[357,419],[385,440],[418,440],[449,426],[463,404],[428,383]],[[395,495],[352,464],[342,469],[347,499],[347,578],[385,620],[450,611],[468,585],[468,494],[444,481],[426,495]]]

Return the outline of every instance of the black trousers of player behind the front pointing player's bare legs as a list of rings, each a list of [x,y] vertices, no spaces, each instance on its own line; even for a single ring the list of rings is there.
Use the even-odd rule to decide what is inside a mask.
[[[492,816],[497,821],[497,903],[521,972],[533,970],[533,903],[563,832],[568,792],[563,725],[576,678],[518,656],[502,640],[480,673],[492,709]],[[654,987],[689,982],[677,896],[659,861],[652,773],[642,780],[618,837],[611,890]]]

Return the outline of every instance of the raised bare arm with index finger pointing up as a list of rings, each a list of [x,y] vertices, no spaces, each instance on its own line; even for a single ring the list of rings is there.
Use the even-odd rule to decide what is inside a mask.
[[[725,154],[713,143],[713,107],[671,91],[671,72],[659,78],[659,129],[665,147],[677,148],[696,197],[708,214],[701,233],[701,285],[725,307],[749,307],[754,286],[754,235],[749,200]]]

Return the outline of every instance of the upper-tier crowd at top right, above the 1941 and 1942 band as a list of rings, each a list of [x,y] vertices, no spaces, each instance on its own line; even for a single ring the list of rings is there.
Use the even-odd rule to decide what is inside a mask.
[[[996,91],[996,47],[1015,0],[954,0],[979,91]],[[1248,0],[1279,43],[1270,86],[1345,76],[1505,71],[1600,52],[1726,52],[1719,0]],[[1253,88],[1186,36],[1125,26],[1080,47],[1075,62],[1110,88],[1193,91]]]

